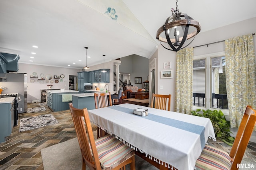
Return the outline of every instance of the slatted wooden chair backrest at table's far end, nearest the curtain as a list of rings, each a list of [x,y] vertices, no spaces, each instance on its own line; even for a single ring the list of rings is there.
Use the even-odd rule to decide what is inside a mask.
[[[171,97],[172,95],[162,95],[162,94],[154,94],[152,95],[150,107],[154,107],[156,109],[166,110],[166,105],[168,105],[168,111],[171,110]],[[167,103],[168,100],[168,103]]]

